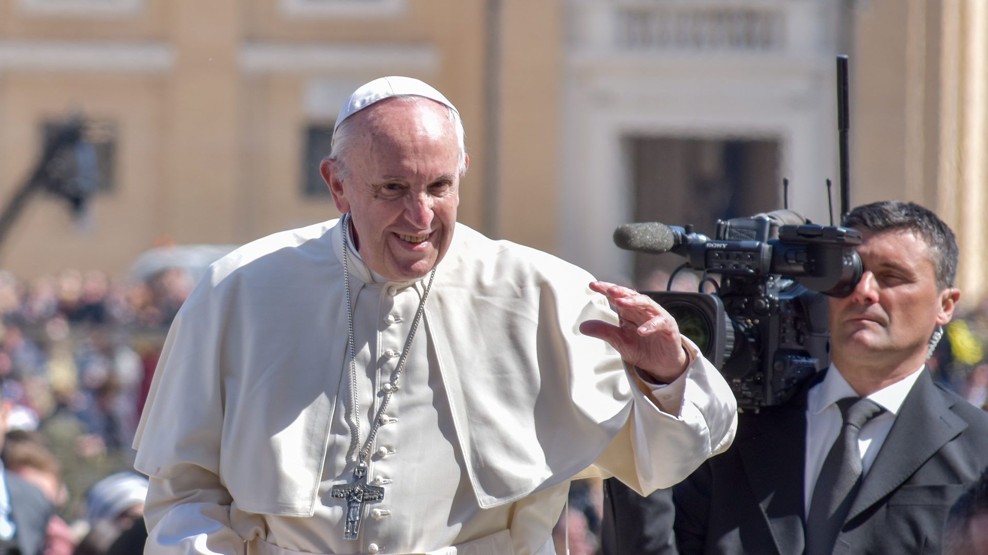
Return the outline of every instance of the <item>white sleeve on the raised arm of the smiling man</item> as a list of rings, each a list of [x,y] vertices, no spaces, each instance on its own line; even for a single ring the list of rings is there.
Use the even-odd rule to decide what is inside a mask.
[[[693,361],[665,385],[628,369],[633,402],[624,427],[595,464],[638,494],[669,488],[730,446],[737,402],[727,382],[684,338]]]

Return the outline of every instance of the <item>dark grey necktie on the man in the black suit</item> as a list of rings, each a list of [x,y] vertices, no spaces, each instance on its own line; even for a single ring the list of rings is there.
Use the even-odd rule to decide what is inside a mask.
[[[813,500],[806,517],[806,555],[829,555],[837,534],[858,495],[862,482],[862,455],[858,435],[864,423],[882,409],[869,399],[845,397],[837,402],[844,426],[823,461],[813,488]]]

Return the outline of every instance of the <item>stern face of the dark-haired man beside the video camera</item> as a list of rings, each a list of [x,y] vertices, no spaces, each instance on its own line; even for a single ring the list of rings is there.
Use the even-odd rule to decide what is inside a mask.
[[[865,231],[862,238],[864,276],[850,295],[830,299],[834,361],[894,367],[917,357],[918,368],[958,293],[937,288],[930,248],[912,231]]]

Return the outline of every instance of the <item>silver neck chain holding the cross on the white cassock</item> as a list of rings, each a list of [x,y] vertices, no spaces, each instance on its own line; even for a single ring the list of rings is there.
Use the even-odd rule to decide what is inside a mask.
[[[354,346],[354,309],[350,302],[350,272],[347,268],[347,250],[349,248],[347,237],[349,231],[350,212],[347,212],[343,215],[343,283],[347,292],[347,346],[350,349],[350,389],[354,392],[350,407],[352,416],[350,423],[350,447],[354,451],[357,451],[361,443],[361,402],[357,394],[357,350]],[[419,309],[415,312],[415,319],[412,320],[412,329],[408,332],[408,339],[405,340],[405,348],[401,351],[401,357],[398,358],[398,366],[394,370],[391,381],[388,382],[391,384],[391,389],[384,394],[384,399],[380,402],[377,414],[374,415],[371,421],[371,434],[368,435],[368,440],[364,444],[364,448],[357,453],[356,462],[358,465],[367,465],[367,458],[371,454],[373,439],[377,436],[377,429],[381,425],[381,417],[384,414],[384,410],[387,409],[388,402],[391,400],[391,394],[398,389],[398,379],[401,377],[401,370],[405,367],[405,359],[408,357],[408,352],[411,351],[415,332],[419,329],[419,320],[422,319],[422,314],[426,310],[426,297],[429,296],[429,291],[432,290],[432,281],[434,278],[436,278],[435,268],[433,268],[432,274],[429,276],[429,284],[426,285],[425,290],[422,292],[422,300],[419,301]]]

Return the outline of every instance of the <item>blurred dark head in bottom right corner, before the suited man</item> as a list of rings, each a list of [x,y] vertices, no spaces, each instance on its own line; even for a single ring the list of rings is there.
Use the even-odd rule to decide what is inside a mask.
[[[950,508],[944,555],[988,555],[988,468]]]

